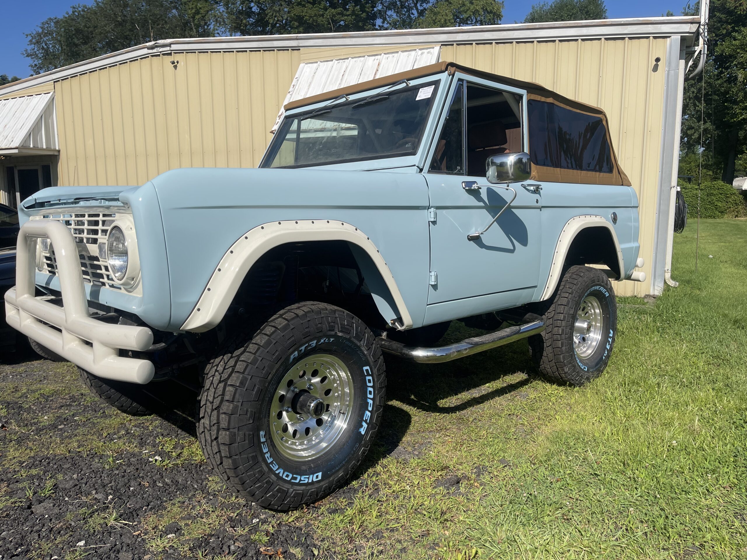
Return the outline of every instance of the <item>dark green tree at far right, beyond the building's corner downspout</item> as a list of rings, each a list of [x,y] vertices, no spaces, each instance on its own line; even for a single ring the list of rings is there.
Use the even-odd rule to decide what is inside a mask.
[[[683,14],[699,11],[696,2]],[[708,51],[704,71],[685,82],[681,158],[702,151],[703,167],[731,184],[747,151],[747,2],[711,0]]]

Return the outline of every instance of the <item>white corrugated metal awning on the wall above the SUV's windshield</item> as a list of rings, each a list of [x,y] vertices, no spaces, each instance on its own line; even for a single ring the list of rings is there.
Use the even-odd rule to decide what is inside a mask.
[[[380,55],[302,63],[291,82],[291,89],[285,96],[283,106],[297,99],[336,90],[338,87],[360,84],[362,81],[428,66],[438,62],[440,53],[441,47],[433,46],[426,49],[385,52]],[[276,131],[284,113],[281,109],[271,132]]]

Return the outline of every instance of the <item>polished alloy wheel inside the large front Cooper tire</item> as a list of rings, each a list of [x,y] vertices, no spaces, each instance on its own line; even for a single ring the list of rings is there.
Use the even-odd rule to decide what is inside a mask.
[[[348,423],[353,382],[329,354],[300,361],[278,385],[270,406],[270,435],[288,458],[314,459],[332,447]]]

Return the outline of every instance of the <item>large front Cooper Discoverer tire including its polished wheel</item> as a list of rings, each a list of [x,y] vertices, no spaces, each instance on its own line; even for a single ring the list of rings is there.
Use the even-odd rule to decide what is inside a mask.
[[[206,370],[198,437],[242,496],[287,511],[347,481],[385,402],[373,333],[333,305],[302,302],[237,332]]]

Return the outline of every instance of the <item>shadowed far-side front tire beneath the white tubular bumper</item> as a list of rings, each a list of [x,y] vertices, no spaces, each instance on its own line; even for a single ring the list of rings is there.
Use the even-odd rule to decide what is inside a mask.
[[[171,382],[150,382],[147,385],[102,379],[78,367],[81,379],[90,391],[118,411],[130,416],[148,416],[168,408]]]

